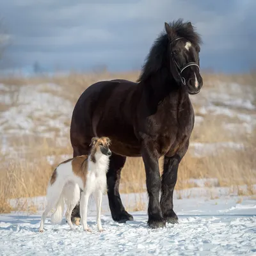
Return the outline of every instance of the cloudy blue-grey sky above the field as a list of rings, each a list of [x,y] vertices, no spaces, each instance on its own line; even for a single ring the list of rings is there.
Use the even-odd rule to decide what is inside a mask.
[[[0,68],[138,70],[164,22],[181,18],[202,36],[202,69],[246,72],[255,10],[255,0],[0,0]]]

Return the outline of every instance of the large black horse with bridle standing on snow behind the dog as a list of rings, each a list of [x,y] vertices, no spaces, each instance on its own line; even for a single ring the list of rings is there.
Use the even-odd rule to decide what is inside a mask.
[[[201,39],[191,22],[165,23],[150,49],[138,83],[115,79],[88,87],[72,114],[70,140],[74,157],[88,154],[91,138],[108,136],[113,152],[107,174],[113,220],[133,220],[119,194],[120,173],[126,157],[143,157],[146,171],[148,225],[177,223],[173,189],[179,163],[189,147],[194,111],[189,94],[200,92]],[[164,156],[162,179],[159,157]],[[159,195],[161,191],[161,199]],[[80,218],[79,205],[72,220]]]

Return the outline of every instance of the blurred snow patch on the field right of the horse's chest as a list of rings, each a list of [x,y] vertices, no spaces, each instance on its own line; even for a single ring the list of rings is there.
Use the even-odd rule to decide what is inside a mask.
[[[234,132],[253,132],[256,126],[256,106],[252,86],[237,83],[224,83],[223,81],[212,81],[212,87],[202,88],[199,97],[191,97],[196,109],[195,125],[204,122],[204,115],[225,116],[236,118],[237,124],[228,124],[227,129]],[[197,119],[197,120],[196,120]]]

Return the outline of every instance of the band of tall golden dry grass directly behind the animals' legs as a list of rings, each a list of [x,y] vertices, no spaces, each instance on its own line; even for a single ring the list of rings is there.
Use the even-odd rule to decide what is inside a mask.
[[[46,143],[40,149],[34,148],[34,150],[35,154],[27,155],[26,161],[19,161],[19,159],[4,161],[1,159],[1,163],[4,164],[0,168],[0,213],[12,210],[36,211],[36,208],[28,202],[20,204],[19,198],[44,196],[54,166],[63,161],[60,153],[70,154],[72,152],[70,147],[54,151],[54,148],[48,147]],[[55,156],[53,164],[47,161],[47,156]],[[163,159],[159,160],[159,165],[162,173]],[[191,182],[191,179],[216,178],[218,179],[217,185],[207,184],[206,180],[205,186],[238,188],[245,184],[247,190],[244,193],[253,195],[255,191],[252,185],[256,184],[255,166],[255,148],[251,147],[246,147],[243,151],[226,150],[225,153],[221,152],[216,156],[201,158],[192,157],[188,153],[180,163],[175,190],[181,191],[197,186]],[[145,180],[145,169],[141,157],[128,158],[124,170],[122,170],[120,192],[145,192]],[[17,198],[15,207],[11,207],[8,203],[10,198]],[[135,205],[137,210],[141,210],[145,206],[145,202],[139,198]],[[126,206],[129,207],[129,205]],[[133,206],[134,202],[132,202]]]

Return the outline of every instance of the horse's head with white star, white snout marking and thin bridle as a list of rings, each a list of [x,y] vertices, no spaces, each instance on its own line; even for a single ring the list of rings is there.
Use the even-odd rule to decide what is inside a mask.
[[[182,29],[180,29],[181,35],[179,28],[172,28],[167,23],[165,23],[165,30],[169,39],[170,70],[172,76],[177,83],[186,86],[189,94],[200,92],[203,86],[203,79],[200,75],[199,36],[194,32],[191,22],[185,25],[182,24]]]

